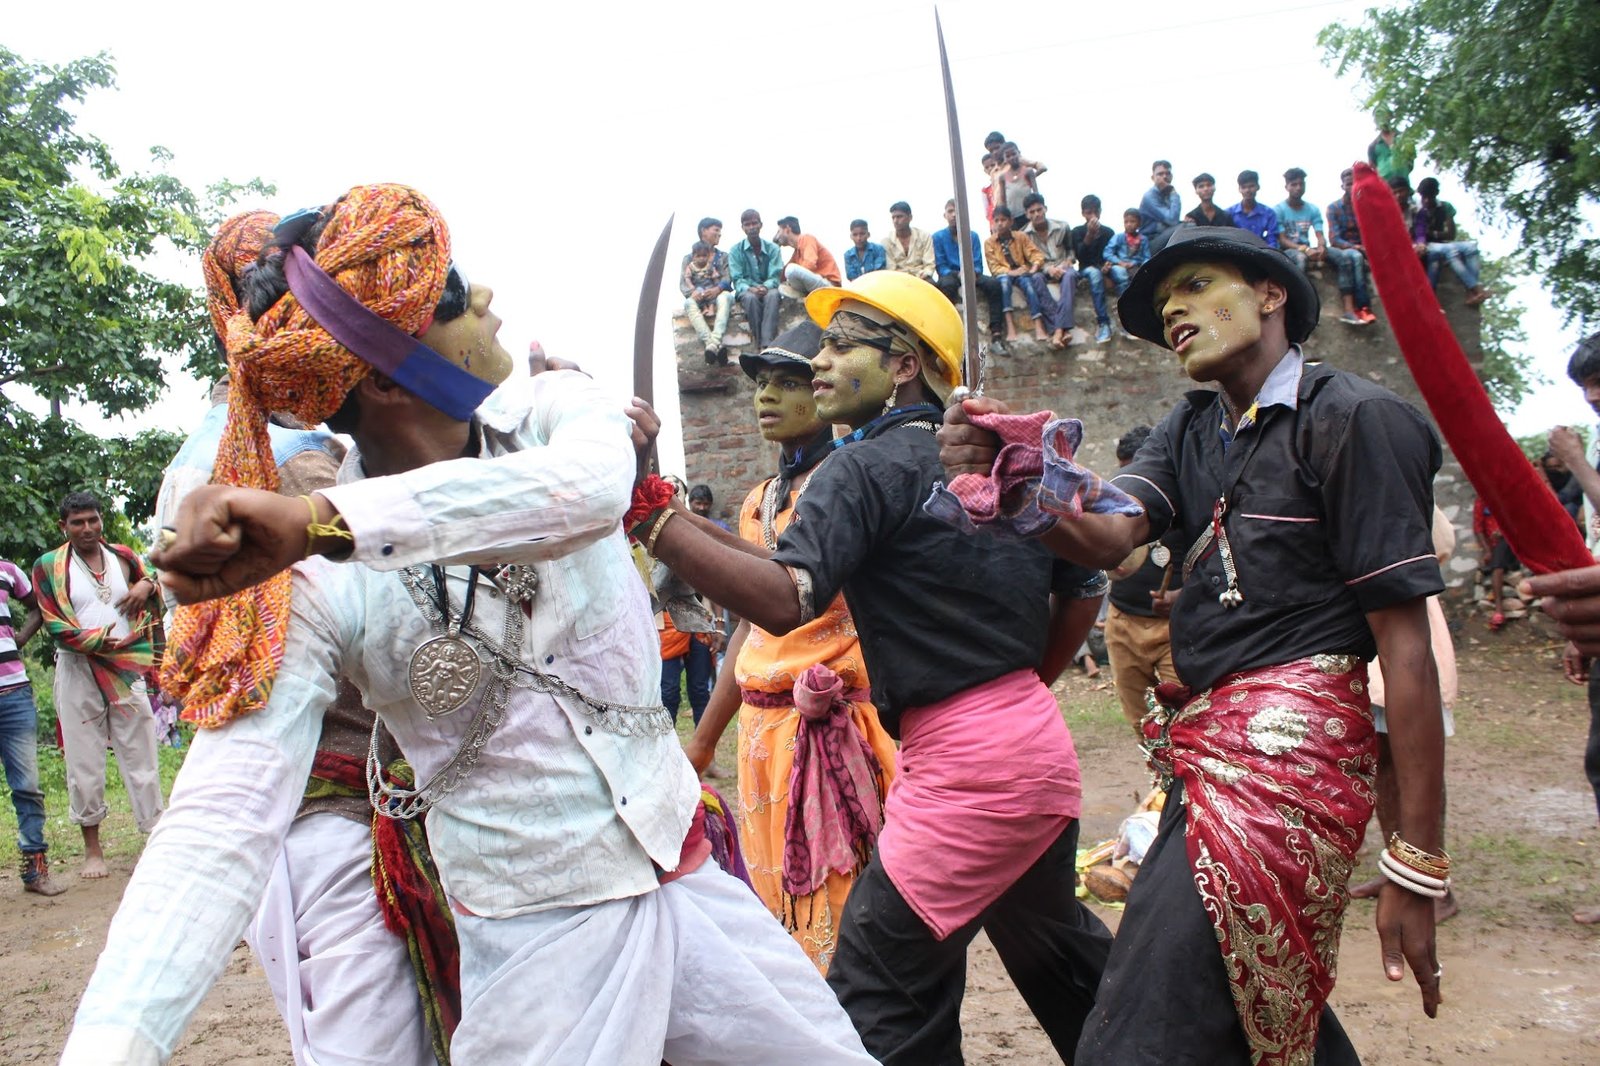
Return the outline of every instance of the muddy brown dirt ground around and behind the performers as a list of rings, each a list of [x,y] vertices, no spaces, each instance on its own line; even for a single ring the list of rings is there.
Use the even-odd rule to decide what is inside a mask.
[[[1582,776],[1584,693],[1566,683],[1557,648],[1530,623],[1458,634],[1461,699],[1450,744],[1448,844],[1462,912],[1440,928],[1445,1005],[1430,1021],[1416,986],[1390,984],[1378,962],[1373,904],[1346,922],[1334,1007],[1368,1066],[1600,1061],[1600,927],[1570,912],[1600,903],[1600,831]],[[1109,688],[1077,675],[1058,688],[1083,765],[1083,840],[1110,836],[1146,784]],[[54,900],[21,893],[14,864],[0,874],[0,1061],[54,1061],[106,927],[126,884],[138,834],[107,824],[112,877],[72,874],[67,834],[53,820],[61,872]],[[1368,836],[1373,872],[1376,832]],[[1117,912],[1102,911],[1115,927]],[[555,980],[555,978],[552,978]],[[974,1066],[1056,1061],[1043,1032],[982,941],[963,1008]],[[266,980],[238,948],[178,1048],[179,1066],[282,1066],[288,1039]],[[478,1064],[469,1064],[478,1066]],[[498,1064],[496,1064],[498,1066]]]

